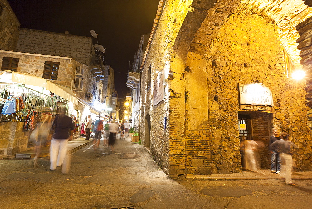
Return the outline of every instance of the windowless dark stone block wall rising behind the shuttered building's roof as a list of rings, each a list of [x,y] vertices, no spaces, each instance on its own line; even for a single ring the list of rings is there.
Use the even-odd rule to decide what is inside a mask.
[[[90,37],[21,28],[16,47],[18,52],[72,57],[90,64]]]

